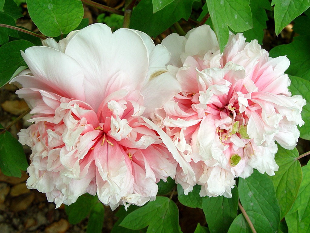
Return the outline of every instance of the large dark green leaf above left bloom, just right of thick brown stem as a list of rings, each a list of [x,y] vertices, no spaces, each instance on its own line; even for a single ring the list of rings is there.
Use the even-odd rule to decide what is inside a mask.
[[[181,18],[188,20],[196,1],[199,0],[175,0],[153,14],[152,1],[142,0],[132,11],[130,28],[156,37]]]

